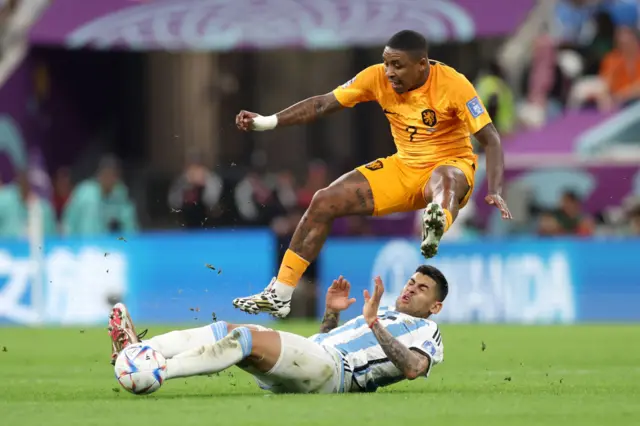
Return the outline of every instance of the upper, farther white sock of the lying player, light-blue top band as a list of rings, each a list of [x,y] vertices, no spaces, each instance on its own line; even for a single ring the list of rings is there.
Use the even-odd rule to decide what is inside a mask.
[[[169,359],[182,352],[215,343],[226,335],[227,323],[218,321],[204,327],[161,334],[146,340],[144,343]]]

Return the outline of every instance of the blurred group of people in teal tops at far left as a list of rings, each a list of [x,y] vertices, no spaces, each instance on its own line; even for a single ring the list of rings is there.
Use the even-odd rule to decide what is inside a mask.
[[[136,208],[114,157],[104,157],[94,177],[74,184],[69,169],[49,179],[30,165],[0,186],[0,236],[24,238],[35,229],[45,236],[131,233]]]

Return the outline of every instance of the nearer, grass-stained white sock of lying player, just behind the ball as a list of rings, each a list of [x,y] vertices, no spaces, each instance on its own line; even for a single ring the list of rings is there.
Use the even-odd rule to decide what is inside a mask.
[[[238,327],[216,343],[167,359],[167,379],[218,373],[251,355],[251,349],[251,330]]]

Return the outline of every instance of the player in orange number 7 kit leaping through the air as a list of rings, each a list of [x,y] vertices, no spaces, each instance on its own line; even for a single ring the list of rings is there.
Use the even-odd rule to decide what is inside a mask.
[[[275,115],[240,111],[244,131],[309,123],[360,102],[376,101],[391,125],[397,153],[358,167],[318,191],[298,224],[278,276],[259,294],[238,298],[249,313],[285,317],[291,295],[320,252],[333,220],[348,215],[384,216],[426,206],[421,251],[431,258],[442,235],[473,191],[476,156],[470,134],[487,156],[489,194],[485,201],[511,213],[502,199],[503,152],[500,136],[471,83],[456,70],[429,60],[427,42],[401,31],[387,43],[382,64],[361,71],[326,95],[314,96]]]

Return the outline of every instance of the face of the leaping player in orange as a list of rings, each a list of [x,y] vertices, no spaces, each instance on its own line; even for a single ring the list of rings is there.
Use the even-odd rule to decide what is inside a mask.
[[[396,93],[406,93],[424,83],[427,58],[416,59],[408,52],[385,47],[382,60],[387,78]]]

